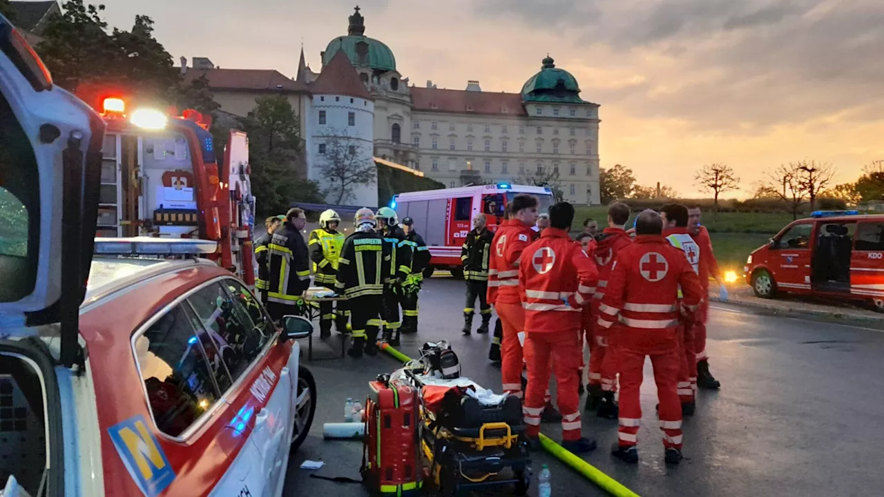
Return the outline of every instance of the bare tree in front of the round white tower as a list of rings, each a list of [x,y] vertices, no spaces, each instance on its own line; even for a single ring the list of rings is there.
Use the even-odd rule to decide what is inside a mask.
[[[358,185],[377,182],[377,165],[371,158],[373,144],[352,138],[346,130],[330,129],[319,171],[328,183],[328,198],[341,205],[354,198]]]

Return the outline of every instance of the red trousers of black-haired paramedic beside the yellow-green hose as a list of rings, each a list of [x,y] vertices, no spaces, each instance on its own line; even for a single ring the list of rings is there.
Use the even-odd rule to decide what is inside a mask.
[[[581,437],[580,395],[577,394],[576,371],[580,368],[580,331],[527,333],[525,358],[528,361],[528,391],[522,410],[529,437],[540,433],[540,419],[546,407],[546,390],[550,374],[555,371],[556,392],[561,412],[562,440]]]

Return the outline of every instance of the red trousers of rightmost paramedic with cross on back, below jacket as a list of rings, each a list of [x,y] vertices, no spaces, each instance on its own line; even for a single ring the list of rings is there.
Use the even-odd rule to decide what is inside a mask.
[[[651,356],[654,383],[659,400],[659,426],[663,430],[663,446],[682,448],[682,405],[678,399],[679,364],[684,355],[677,347],[660,354],[645,354],[619,347],[620,358],[620,428],[617,441],[622,447],[634,447],[642,422],[639,390],[644,379],[644,357]]]

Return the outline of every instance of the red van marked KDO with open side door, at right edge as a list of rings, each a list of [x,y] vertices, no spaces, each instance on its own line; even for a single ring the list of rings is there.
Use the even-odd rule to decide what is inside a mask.
[[[812,212],[755,249],[743,267],[755,294],[867,300],[884,312],[884,215]]]

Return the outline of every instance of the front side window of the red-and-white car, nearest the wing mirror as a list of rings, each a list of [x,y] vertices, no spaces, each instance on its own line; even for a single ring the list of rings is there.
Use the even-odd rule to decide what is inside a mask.
[[[199,324],[208,331],[213,350],[221,351],[230,371],[230,378],[218,379],[218,386],[225,392],[261,353],[267,339],[255,328],[246,307],[220,282],[202,288],[187,300],[194,306]]]

